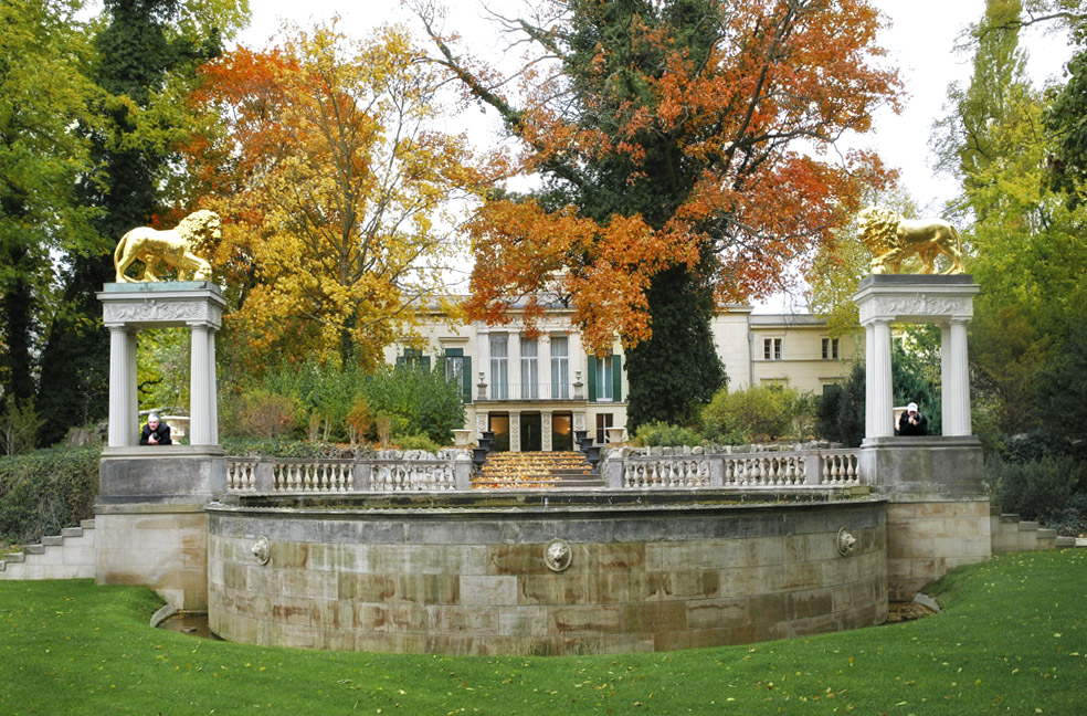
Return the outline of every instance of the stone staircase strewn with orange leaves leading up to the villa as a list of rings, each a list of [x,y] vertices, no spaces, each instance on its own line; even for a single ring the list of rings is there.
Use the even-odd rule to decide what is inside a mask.
[[[592,472],[579,452],[493,452],[479,473],[472,476],[473,488],[603,486],[600,475]]]

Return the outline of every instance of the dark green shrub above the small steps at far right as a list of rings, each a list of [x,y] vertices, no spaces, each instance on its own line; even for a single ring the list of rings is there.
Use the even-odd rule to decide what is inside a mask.
[[[1087,484],[1085,473],[1087,467],[1068,455],[1022,463],[993,455],[985,463],[986,478],[1001,509],[1042,522],[1067,507],[1076,486]]]

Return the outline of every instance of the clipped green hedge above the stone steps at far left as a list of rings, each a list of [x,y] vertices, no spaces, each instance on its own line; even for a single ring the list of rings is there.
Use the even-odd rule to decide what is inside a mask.
[[[50,448],[0,457],[0,540],[36,541],[94,517],[101,454]]]

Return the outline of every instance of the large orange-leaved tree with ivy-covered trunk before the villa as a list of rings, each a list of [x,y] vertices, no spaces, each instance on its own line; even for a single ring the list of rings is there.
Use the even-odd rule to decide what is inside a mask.
[[[766,297],[803,270],[878,158],[838,154],[895,103],[864,0],[538,0],[498,18],[534,50],[517,82],[446,35],[416,3],[436,60],[520,140],[516,173],[471,223],[469,313],[527,297],[576,306],[593,349],[627,352],[629,420],[682,422],[726,377],[716,305]],[[531,326],[529,326],[531,329]]]

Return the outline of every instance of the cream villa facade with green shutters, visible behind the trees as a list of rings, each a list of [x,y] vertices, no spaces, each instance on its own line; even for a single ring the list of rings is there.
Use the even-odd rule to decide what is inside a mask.
[[[393,344],[386,361],[442,366],[461,386],[465,428],[473,436],[494,431],[496,450],[572,450],[578,430],[602,444],[608,428],[626,427],[625,357],[618,339],[608,356],[587,354],[572,315],[549,308],[539,337],[530,338],[516,314],[505,326],[450,323],[433,314],[420,328],[423,347]],[[814,316],[754,314],[751,306],[722,310],[713,330],[734,390],[788,383],[822,392],[848,376],[856,350],[852,337],[831,337]]]

